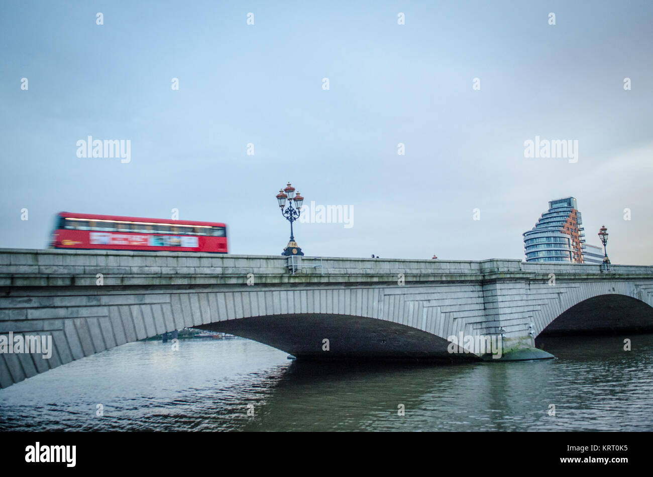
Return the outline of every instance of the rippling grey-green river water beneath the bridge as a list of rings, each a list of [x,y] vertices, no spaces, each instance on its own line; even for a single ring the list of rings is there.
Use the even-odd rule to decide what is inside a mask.
[[[543,347],[556,360],[355,366],[242,338],[140,341],[0,390],[0,431],[653,430],[653,334]]]

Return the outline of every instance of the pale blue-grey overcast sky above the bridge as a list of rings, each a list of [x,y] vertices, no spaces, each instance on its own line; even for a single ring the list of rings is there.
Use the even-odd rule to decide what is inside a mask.
[[[62,210],[178,209],[278,255],[290,181],[353,209],[296,224],[306,255],[524,259],[573,195],[589,243],[605,224],[613,263],[653,265],[651,25],[647,1],[5,0],[0,247],[45,248]],[[88,136],[129,139],[131,162],[78,158]],[[577,162],[525,158],[535,136]]]

